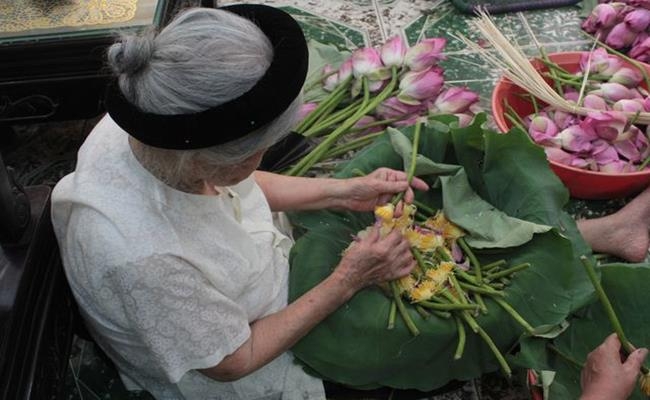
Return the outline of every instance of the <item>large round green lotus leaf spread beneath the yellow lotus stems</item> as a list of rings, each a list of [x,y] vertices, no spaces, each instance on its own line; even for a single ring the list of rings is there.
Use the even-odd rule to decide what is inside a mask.
[[[436,129],[436,124],[423,127],[419,148],[424,157],[435,163],[461,165],[473,190],[505,214],[554,227],[520,246],[477,250],[476,254],[482,263],[502,258],[510,265],[531,263],[512,279],[506,300],[533,326],[561,324],[593,293],[578,258],[589,249],[573,220],[562,211],[568,195],[548,168],[543,151],[521,131],[504,135],[484,129],[484,115],[466,128],[457,128],[449,117],[435,120],[450,129],[444,132]],[[413,128],[402,132],[413,137]],[[361,151],[337,177],[353,176],[353,171],[369,173],[378,167],[401,169],[402,158],[387,136]],[[418,193],[417,199],[434,209],[442,207],[439,187]],[[351,237],[374,217],[372,213],[333,211],[291,217],[304,232],[290,258],[289,290],[290,300],[294,300],[332,272]],[[477,321],[506,352],[517,343],[523,329],[489,298],[486,303],[489,312]],[[457,332],[453,319],[434,316],[424,320],[408,306],[420,335],[411,336],[399,318],[395,328],[387,330],[390,304],[378,288],[357,293],[300,340],[294,354],[308,371],[360,388],[428,391],[451,380],[467,380],[498,369],[491,351],[470,330],[463,357],[454,361]]]

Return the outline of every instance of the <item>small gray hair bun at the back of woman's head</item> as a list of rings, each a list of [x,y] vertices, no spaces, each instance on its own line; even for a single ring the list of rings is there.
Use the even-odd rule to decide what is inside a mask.
[[[116,74],[133,75],[144,69],[154,52],[154,32],[125,35],[108,49],[108,64]]]

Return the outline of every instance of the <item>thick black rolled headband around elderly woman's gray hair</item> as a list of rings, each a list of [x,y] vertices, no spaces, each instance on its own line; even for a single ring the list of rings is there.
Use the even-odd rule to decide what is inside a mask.
[[[298,97],[308,64],[307,43],[298,23],[286,12],[265,5],[240,4],[221,9],[251,20],[268,37],[273,61],[264,76],[231,101],[197,113],[172,115],[141,111],[124,98],[114,81],[106,98],[108,113],[131,136],[164,149],[211,147],[268,124]]]

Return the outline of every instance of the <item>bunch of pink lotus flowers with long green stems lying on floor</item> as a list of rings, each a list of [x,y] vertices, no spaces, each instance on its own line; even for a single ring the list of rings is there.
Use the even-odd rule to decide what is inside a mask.
[[[326,65],[319,84],[329,94],[306,103],[295,128],[319,143],[286,173],[304,175],[317,162],[369,144],[387,126],[413,125],[431,114],[453,114],[468,125],[480,111],[479,96],[445,87],[438,65],[445,44],[430,38],[409,48],[395,36],[379,48],[357,49],[337,68]]]

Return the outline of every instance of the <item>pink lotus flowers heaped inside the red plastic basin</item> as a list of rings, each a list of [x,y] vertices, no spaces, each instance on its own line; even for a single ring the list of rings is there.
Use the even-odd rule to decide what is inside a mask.
[[[602,48],[585,53],[577,73],[557,65],[549,68],[547,76],[552,75],[566,100],[593,111],[580,116],[552,106],[541,108],[531,96],[535,112],[518,121],[510,113],[511,121],[522,125],[555,162],[605,173],[646,169],[650,126],[622,114],[650,112],[650,93],[640,85],[641,72]]]

